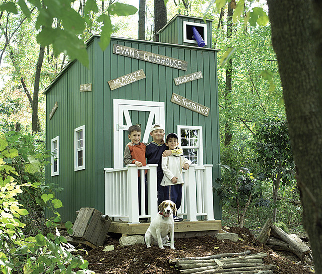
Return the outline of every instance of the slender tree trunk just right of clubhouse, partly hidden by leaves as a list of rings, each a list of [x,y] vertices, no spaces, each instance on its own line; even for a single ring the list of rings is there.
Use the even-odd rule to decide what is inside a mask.
[[[232,35],[232,16],[233,16],[233,9],[231,8],[231,2],[228,3],[228,18],[227,18],[227,41],[229,40]],[[232,91],[232,57],[227,62],[226,67],[226,89],[225,89],[225,108],[231,108],[231,91]],[[229,114],[228,114],[229,115]],[[224,146],[227,147],[231,143],[232,132],[231,132],[231,121],[230,117],[227,118],[225,124],[225,140]]]

